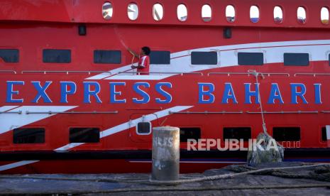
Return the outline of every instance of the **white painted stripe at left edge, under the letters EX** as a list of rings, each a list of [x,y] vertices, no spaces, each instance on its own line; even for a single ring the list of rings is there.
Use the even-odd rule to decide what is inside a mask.
[[[27,124],[32,124],[35,121],[40,121],[46,119],[50,116],[56,114],[26,114],[26,111],[38,111],[38,112],[48,112],[48,111],[67,111],[73,109],[77,106],[22,106],[9,111],[21,111],[21,114],[1,114],[0,118],[0,134],[4,134],[7,131],[11,131],[21,126]]]

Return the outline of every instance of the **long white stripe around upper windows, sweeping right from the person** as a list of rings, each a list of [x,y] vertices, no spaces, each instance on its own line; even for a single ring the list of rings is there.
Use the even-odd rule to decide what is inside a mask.
[[[150,72],[197,72],[201,70],[209,70],[217,67],[237,66],[237,53],[264,53],[265,63],[283,62],[283,53],[309,53],[309,60],[328,60],[330,53],[330,40],[299,40],[299,41],[283,41],[283,42],[268,42],[268,43],[247,43],[238,45],[223,45],[209,48],[195,48],[171,54],[170,65],[150,65]],[[190,54],[193,51],[216,51],[218,52],[218,65],[191,65]],[[126,67],[126,66],[124,66]],[[116,69],[117,70],[117,69]],[[111,70],[112,72],[113,70]],[[102,75],[102,74],[101,74]],[[173,75],[163,74],[161,77],[145,75],[115,75],[112,77],[103,77],[97,75],[95,80],[163,80],[166,77]],[[143,79],[140,79],[143,78]]]

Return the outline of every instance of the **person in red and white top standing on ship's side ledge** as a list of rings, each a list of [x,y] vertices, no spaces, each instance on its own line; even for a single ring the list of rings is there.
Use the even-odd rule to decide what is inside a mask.
[[[149,65],[150,65],[150,48],[148,46],[144,46],[141,48],[141,53],[138,55],[130,48],[127,49],[132,55],[138,58],[138,65],[132,65],[132,69],[138,69],[139,75],[149,75]]]

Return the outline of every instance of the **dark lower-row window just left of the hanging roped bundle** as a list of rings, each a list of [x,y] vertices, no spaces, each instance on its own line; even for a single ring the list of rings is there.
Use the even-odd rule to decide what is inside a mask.
[[[251,138],[250,127],[224,127],[224,140],[225,139],[243,139],[248,141]]]

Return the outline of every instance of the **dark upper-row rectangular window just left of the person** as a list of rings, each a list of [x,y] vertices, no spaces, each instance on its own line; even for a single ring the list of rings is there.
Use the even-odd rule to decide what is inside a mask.
[[[94,63],[121,64],[121,51],[94,50]]]

